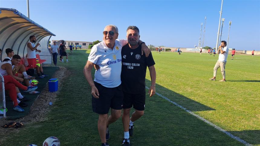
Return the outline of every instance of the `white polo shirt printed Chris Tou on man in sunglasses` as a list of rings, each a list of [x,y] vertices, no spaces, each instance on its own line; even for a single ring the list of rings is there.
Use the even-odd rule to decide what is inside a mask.
[[[121,50],[127,40],[115,40],[112,49],[105,42],[94,45],[90,51],[88,61],[99,65],[94,81],[108,88],[114,88],[121,84],[122,56]]]

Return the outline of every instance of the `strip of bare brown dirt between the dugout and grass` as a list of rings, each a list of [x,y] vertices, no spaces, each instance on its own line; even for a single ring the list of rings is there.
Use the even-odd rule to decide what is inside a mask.
[[[52,78],[58,78],[60,81],[58,83],[58,89],[61,89],[63,78],[69,76],[70,72],[66,70],[65,67],[60,67],[57,70]],[[47,120],[47,113],[50,111],[49,102],[55,102],[57,100],[57,95],[59,94],[59,90],[57,92],[49,92],[48,84],[41,91],[41,94],[35,99],[34,104],[30,108],[30,112],[27,116],[24,116],[21,119],[17,120],[0,120],[0,126],[8,122],[22,122],[25,126],[29,123],[45,121]],[[2,141],[4,141],[10,134],[14,134],[18,132],[20,129],[15,128],[2,128],[0,127],[0,145],[2,145]]]

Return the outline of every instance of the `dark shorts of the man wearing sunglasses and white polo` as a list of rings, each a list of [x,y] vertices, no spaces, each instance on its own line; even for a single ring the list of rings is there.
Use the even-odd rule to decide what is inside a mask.
[[[107,114],[110,107],[115,110],[123,108],[123,91],[122,85],[115,88],[107,88],[101,84],[94,82],[99,92],[99,98],[92,95],[92,110],[98,114]]]

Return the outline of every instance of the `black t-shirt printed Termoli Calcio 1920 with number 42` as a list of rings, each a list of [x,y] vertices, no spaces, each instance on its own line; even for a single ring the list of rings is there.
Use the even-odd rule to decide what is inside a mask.
[[[131,49],[127,44],[123,46],[121,54],[123,91],[130,94],[145,92],[146,69],[155,64],[152,53],[145,57],[145,54],[141,55],[141,46]]]

